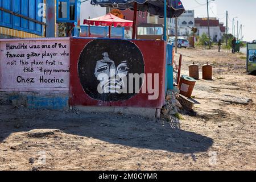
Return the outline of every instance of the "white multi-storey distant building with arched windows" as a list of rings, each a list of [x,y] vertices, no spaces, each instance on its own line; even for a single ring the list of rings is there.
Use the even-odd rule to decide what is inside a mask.
[[[195,27],[195,11],[188,10],[188,11],[185,11],[182,15],[180,15],[178,18],[178,25],[179,25],[180,36],[191,35],[192,34],[191,28]]]

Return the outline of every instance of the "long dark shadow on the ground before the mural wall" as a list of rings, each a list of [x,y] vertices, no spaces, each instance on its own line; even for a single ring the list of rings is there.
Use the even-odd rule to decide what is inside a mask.
[[[177,129],[173,123],[155,122],[133,115],[17,110],[4,115],[0,111],[3,116],[0,120],[0,142],[8,142],[7,137],[11,133],[20,131],[60,129],[67,134],[93,137],[113,144],[181,154],[207,151],[213,144],[211,138]]]

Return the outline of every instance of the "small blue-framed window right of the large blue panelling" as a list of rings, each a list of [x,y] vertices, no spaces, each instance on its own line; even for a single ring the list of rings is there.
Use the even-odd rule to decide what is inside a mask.
[[[77,0],[57,0],[57,22],[76,22]]]

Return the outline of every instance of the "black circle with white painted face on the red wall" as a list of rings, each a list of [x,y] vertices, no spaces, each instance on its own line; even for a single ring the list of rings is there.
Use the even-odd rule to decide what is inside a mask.
[[[78,73],[84,92],[94,100],[128,100],[141,89],[144,60],[128,40],[95,39],[82,49]]]

